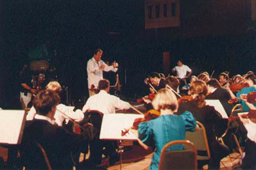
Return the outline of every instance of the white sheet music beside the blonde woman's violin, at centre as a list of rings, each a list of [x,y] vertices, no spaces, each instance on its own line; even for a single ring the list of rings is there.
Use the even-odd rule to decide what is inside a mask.
[[[129,132],[122,136],[122,130],[133,126],[134,119],[143,117],[138,114],[104,114],[102,128],[100,130],[100,139],[109,140],[137,140],[134,133]]]

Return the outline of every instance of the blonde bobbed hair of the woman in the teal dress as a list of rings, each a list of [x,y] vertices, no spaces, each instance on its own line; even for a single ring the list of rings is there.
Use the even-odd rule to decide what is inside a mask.
[[[160,89],[152,101],[154,109],[171,110],[174,112],[178,109],[178,101],[175,94],[169,89]]]

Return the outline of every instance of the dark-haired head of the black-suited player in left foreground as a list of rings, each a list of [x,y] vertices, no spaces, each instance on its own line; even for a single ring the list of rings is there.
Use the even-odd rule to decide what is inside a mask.
[[[46,115],[51,111],[51,108],[57,106],[60,102],[60,97],[57,93],[43,90],[35,96],[33,106],[37,114]]]

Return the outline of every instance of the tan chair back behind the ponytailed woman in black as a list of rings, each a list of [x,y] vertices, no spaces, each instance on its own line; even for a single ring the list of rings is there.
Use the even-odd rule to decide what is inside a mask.
[[[208,145],[208,140],[205,132],[205,126],[202,123],[196,122],[199,126],[199,130],[195,132],[186,132],[185,139],[190,140],[198,151],[206,151],[207,156],[202,157],[197,155],[197,160],[210,160],[210,148]],[[186,146],[185,146],[186,148]]]

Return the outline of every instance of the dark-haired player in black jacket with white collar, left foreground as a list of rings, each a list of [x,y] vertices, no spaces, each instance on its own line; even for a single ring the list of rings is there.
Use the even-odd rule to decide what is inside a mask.
[[[71,153],[82,149],[94,139],[93,126],[87,126],[81,134],[51,124],[60,97],[55,92],[43,90],[33,100],[36,114],[33,121],[26,121],[21,143],[21,158],[26,157],[28,143],[38,142],[45,149],[52,169],[71,169]],[[37,157],[35,157],[36,159]],[[44,161],[44,160],[42,160]],[[27,167],[26,167],[27,169]]]

